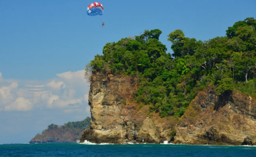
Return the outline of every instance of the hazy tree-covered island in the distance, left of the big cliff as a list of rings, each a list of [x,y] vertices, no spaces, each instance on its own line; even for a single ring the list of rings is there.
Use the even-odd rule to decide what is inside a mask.
[[[90,117],[78,122],[68,122],[63,126],[51,124],[36,134],[29,143],[73,143],[80,140],[82,132],[90,128]]]

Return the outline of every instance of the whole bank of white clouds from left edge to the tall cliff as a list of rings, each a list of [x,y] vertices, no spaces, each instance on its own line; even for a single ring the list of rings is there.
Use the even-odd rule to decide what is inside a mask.
[[[81,109],[88,103],[90,84],[84,79],[84,70],[56,74],[48,80],[9,80],[0,84],[0,108],[3,111],[40,109]],[[0,79],[2,78],[0,73]],[[6,84],[9,84],[6,86]],[[4,86],[1,86],[4,85]]]

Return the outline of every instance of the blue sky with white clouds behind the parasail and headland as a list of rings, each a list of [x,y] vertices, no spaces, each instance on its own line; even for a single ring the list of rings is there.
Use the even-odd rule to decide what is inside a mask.
[[[90,116],[82,70],[108,42],[160,29],[172,52],[167,35],[176,29],[209,40],[256,17],[255,0],[101,0],[104,15],[89,17],[93,2],[0,0],[0,143]]]

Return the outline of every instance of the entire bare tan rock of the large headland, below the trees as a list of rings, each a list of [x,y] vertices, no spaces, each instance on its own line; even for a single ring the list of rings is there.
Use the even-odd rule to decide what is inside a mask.
[[[93,74],[90,129],[80,143],[169,143],[256,145],[256,99],[239,91],[218,96],[201,91],[181,118],[160,118],[130,101],[137,78]]]

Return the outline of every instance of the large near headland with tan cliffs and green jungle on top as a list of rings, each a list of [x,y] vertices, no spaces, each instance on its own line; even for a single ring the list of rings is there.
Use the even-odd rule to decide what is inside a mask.
[[[159,29],[106,43],[87,64],[81,143],[256,145],[256,19],[202,41]],[[85,141],[86,142],[86,141]]]

